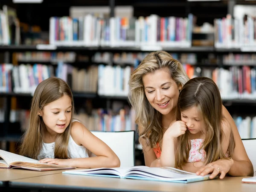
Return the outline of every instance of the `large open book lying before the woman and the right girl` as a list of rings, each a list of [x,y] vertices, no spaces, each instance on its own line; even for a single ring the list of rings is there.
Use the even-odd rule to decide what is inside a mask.
[[[172,167],[147,167],[147,166],[80,169],[80,170],[64,171],[62,173],[74,174],[74,175],[118,177],[118,178],[138,179],[138,180],[180,182],[180,183],[191,183],[191,182],[196,182],[201,180],[209,180],[209,176],[210,176],[210,175],[200,176],[200,175],[196,175],[195,173],[185,172]]]

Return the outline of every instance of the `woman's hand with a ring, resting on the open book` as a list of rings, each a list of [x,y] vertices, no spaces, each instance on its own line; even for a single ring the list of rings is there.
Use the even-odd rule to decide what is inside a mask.
[[[220,179],[223,179],[230,168],[233,166],[233,159],[220,159],[215,162],[209,163],[206,166],[203,166],[201,169],[196,172],[197,175],[207,175],[211,173],[210,179],[213,179],[218,174],[220,174]]]

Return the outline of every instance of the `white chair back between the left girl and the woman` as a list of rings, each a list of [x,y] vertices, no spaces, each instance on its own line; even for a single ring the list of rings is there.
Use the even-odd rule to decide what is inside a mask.
[[[135,165],[135,131],[91,131],[119,157],[120,167]]]

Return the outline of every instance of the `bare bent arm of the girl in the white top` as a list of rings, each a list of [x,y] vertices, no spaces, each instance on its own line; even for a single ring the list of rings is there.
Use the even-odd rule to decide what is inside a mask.
[[[71,137],[78,145],[83,145],[96,157],[73,159],[44,159],[42,163],[68,165],[77,168],[119,167],[120,160],[112,149],[98,137],[94,136],[80,122],[73,122]]]

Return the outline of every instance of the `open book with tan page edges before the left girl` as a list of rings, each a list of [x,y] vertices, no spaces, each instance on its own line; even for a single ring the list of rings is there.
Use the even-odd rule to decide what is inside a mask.
[[[6,168],[6,169],[20,168],[20,169],[29,169],[33,171],[76,169],[76,167],[70,167],[70,166],[39,163],[38,160],[24,157],[8,151],[3,151],[1,149],[0,149],[0,157],[2,157],[3,159],[3,160],[0,160],[0,168]]]

